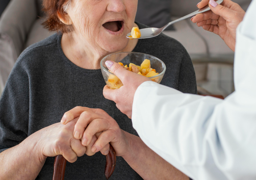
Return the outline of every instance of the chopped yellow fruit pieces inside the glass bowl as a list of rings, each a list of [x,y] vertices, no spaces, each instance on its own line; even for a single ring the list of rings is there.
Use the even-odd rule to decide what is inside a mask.
[[[140,66],[130,63],[128,67],[128,65],[124,65],[122,62],[118,62],[118,63],[121,66],[123,66],[126,70],[132,71],[134,73],[137,73],[146,77],[153,77],[159,74],[156,72],[155,69],[151,68],[150,60],[148,59],[145,59]],[[158,82],[158,77],[153,78],[151,80]],[[120,79],[117,76],[112,74],[109,75],[109,79],[108,81],[106,81],[106,84],[109,86],[110,89],[118,89],[121,86],[123,86],[122,81],[120,81]]]

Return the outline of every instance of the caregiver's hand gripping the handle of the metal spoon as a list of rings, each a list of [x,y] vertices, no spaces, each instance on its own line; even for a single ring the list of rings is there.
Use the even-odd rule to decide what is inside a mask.
[[[214,0],[202,0],[197,7],[202,8],[209,3],[212,11],[197,14],[191,18],[193,23],[204,30],[219,35],[228,47],[234,51],[236,45],[236,29],[243,20],[245,11],[237,4],[230,0],[224,0],[222,5],[217,4]]]

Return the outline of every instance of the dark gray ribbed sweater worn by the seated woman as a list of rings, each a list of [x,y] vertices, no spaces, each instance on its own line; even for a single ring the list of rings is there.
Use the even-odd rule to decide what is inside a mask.
[[[138,23],[139,24],[139,23]],[[145,28],[139,24],[140,29]],[[73,64],[61,49],[61,34],[28,47],[18,58],[0,100],[0,152],[18,145],[26,137],[51,124],[75,106],[101,108],[124,131],[138,135],[131,120],[115,103],[102,95],[105,86],[101,70],[83,69]],[[134,52],[161,59],[167,67],[161,84],[185,93],[196,93],[196,78],[186,49],[176,40],[159,35],[139,40]],[[37,179],[50,180],[54,157],[47,157]],[[65,179],[104,180],[105,156],[78,157],[67,163]],[[15,173],[15,172],[13,172]],[[122,157],[117,157],[111,180],[142,179]]]

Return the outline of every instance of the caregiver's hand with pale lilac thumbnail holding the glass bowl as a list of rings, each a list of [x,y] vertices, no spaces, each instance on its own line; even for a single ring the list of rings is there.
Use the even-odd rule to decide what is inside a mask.
[[[116,103],[116,107],[131,118],[133,97],[137,88],[145,81],[151,81],[149,78],[127,71],[116,62],[106,61],[106,66],[113,72],[122,82],[123,85],[119,89],[109,89],[105,86],[103,95],[106,99]]]

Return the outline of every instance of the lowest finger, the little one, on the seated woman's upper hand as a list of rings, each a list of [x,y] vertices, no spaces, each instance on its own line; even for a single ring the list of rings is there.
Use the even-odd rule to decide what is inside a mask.
[[[107,149],[103,149],[106,148],[105,146],[109,144],[109,142],[111,142],[114,138],[115,138],[115,133],[113,133],[112,130],[108,130],[108,131],[104,131],[99,138],[97,139],[97,141],[94,143],[93,147],[92,147],[92,151],[93,152],[98,152],[101,151],[102,154],[106,155],[108,153],[106,153],[106,150],[109,150],[109,146]],[[106,154],[105,154],[106,153]]]

